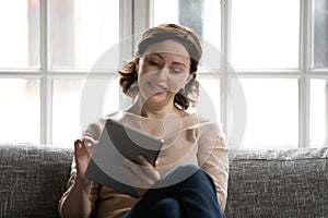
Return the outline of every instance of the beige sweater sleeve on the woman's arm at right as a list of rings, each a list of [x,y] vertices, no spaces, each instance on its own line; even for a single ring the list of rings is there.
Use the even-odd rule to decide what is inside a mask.
[[[199,128],[198,162],[213,179],[223,211],[227,197],[229,158],[225,135],[215,123],[203,123]]]

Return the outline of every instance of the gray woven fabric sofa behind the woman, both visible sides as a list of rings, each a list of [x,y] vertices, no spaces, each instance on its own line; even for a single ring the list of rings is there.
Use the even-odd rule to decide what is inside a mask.
[[[230,150],[224,217],[328,217],[328,148]],[[72,148],[0,145],[0,217],[58,217]]]

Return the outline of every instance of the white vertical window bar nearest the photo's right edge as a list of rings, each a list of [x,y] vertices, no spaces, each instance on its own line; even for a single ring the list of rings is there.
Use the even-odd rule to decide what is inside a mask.
[[[298,80],[298,146],[309,147],[309,70],[312,60],[312,0],[301,0]]]

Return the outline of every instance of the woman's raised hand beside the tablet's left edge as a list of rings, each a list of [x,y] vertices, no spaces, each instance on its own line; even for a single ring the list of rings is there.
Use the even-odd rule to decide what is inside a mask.
[[[91,150],[93,146],[87,146],[82,140],[74,142],[74,156],[77,164],[77,180],[89,183],[85,178],[85,171],[91,159]]]

